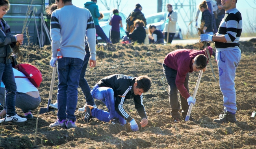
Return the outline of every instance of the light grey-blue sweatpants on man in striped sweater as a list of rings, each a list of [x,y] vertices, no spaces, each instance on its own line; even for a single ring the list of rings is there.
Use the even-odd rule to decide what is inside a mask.
[[[219,67],[219,86],[223,94],[224,111],[236,113],[236,68],[241,60],[241,50],[216,52]]]

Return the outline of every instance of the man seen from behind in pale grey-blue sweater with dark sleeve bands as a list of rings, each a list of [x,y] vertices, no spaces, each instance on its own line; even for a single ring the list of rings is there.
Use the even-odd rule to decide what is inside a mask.
[[[74,6],[72,0],[56,0],[58,9],[52,13],[50,35],[52,58],[50,65],[58,67],[58,113],[57,120],[50,127],[76,127],[78,82],[85,57],[85,36],[89,45],[89,67],[96,66],[96,31],[88,9]],[[60,49],[57,61],[57,49]]]

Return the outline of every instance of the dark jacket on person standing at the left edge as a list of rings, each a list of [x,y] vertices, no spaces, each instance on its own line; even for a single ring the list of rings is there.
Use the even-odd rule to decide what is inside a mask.
[[[0,29],[0,62],[5,64],[10,64],[11,60],[9,56],[12,54],[13,50],[11,48],[16,45],[15,36],[11,35],[10,26],[6,23],[4,19],[0,19],[4,25],[4,31]]]

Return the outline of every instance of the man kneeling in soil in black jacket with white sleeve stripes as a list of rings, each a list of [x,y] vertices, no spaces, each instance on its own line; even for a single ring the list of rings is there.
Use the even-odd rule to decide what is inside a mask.
[[[135,108],[141,116],[141,127],[148,124],[147,114],[143,105],[142,93],[146,93],[151,87],[151,80],[148,76],[139,76],[137,78],[122,74],[115,74],[102,78],[94,87],[92,96],[101,100],[107,107],[108,112],[96,107],[87,105],[85,107],[85,122],[89,122],[92,117],[111,124],[130,123],[132,131],[138,131],[139,127],[129,114],[123,108],[126,99],[134,98]]]

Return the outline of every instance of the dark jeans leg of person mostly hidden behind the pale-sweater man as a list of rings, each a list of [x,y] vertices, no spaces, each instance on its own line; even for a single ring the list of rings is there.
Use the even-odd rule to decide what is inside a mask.
[[[88,65],[88,61],[91,56],[88,45],[86,45],[86,47],[85,47],[85,52],[86,52],[86,55],[84,56],[84,60],[83,60],[83,64],[82,64],[82,70],[81,70],[80,78],[79,78],[79,86],[81,87],[81,89],[83,91],[86,103],[88,105],[95,105],[93,97],[91,96],[91,88],[89,87],[87,80],[84,78],[85,71],[86,71],[87,65]]]

